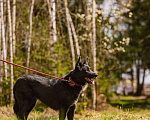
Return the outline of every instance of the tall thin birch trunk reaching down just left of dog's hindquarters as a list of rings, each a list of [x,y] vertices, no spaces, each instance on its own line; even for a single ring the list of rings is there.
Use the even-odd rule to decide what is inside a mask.
[[[11,10],[10,10],[10,0],[7,0],[8,6],[8,21],[9,21],[9,42],[10,42],[10,62],[13,63],[13,45],[12,45],[12,23],[11,23]],[[10,65],[10,103],[13,102],[13,65]]]

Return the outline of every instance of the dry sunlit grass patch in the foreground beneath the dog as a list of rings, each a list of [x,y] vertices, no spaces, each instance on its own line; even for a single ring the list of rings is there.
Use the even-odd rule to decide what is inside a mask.
[[[12,107],[0,107],[0,120],[17,120]],[[43,112],[33,110],[29,120],[58,120],[58,112],[50,108]],[[150,110],[123,111],[114,107],[105,111],[85,110],[75,114],[75,120],[150,120]]]

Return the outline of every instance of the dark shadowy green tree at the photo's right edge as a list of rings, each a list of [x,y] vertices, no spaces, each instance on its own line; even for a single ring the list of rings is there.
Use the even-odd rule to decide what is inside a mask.
[[[133,16],[129,18],[129,13],[124,15],[127,19],[124,21],[124,24],[128,27],[128,29],[126,29],[124,33],[121,33],[119,37],[124,35],[128,36],[130,38],[130,43],[128,47],[125,48],[126,52],[117,54],[117,59],[120,61],[123,72],[129,74],[131,77],[133,77],[133,72],[135,72],[133,71],[133,66],[140,70],[149,69],[149,5],[150,1],[134,0],[132,1],[132,7],[130,9]],[[141,74],[139,73],[139,76],[134,76],[134,78],[139,81],[141,77],[140,75]],[[141,95],[142,87],[143,84],[137,82],[136,95]]]

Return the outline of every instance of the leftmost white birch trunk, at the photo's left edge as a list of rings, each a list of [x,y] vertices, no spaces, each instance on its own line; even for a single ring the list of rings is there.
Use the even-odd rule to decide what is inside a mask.
[[[6,39],[5,39],[5,26],[4,26],[4,8],[3,8],[3,0],[0,0],[1,4],[1,25],[2,25],[2,41],[3,41],[3,59],[6,60]],[[5,79],[7,79],[7,64],[4,63],[4,73]]]

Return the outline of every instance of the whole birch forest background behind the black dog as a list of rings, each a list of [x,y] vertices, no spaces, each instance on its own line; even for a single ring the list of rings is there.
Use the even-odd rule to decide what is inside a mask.
[[[149,0],[0,0],[0,60],[62,77],[88,56],[98,77],[84,87],[78,113],[98,110],[102,95],[111,104],[118,96],[112,86],[125,79],[139,98],[150,74],[149,6]],[[36,73],[0,61],[1,107],[13,105],[13,86],[26,74]]]

